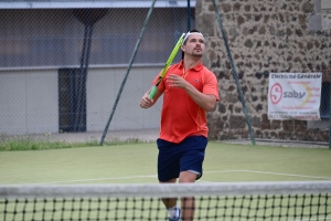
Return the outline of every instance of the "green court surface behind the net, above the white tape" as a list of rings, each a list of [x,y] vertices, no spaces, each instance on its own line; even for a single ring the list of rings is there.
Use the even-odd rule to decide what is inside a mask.
[[[157,183],[156,144],[0,152],[0,185]],[[331,151],[211,141],[199,182],[331,180]]]

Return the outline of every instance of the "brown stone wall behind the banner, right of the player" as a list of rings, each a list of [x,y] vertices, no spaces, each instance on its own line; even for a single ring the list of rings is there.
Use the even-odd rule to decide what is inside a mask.
[[[328,141],[329,131],[303,120],[269,120],[271,72],[331,74],[330,11],[321,0],[215,0],[255,138]],[[317,15],[321,19],[317,19]],[[206,38],[204,63],[218,78],[221,101],[207,114],[211,139],[249,138],[212,0],[196,1],[196,29]]]

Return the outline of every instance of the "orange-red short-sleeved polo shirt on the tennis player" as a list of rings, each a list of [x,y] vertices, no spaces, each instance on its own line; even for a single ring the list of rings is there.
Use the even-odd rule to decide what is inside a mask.
[[[207,137],[209,128],[205,110],[195,104],[184,90],[170,87],[167,82],[168,74],[184,77],[197,91],[215,95],[218,101],[218,85],[214,73],[202,63],[184,72],[183,61],[171,65],[158,86],[158,91],[163,92],[160,138],[171,143],[181,143],[189,136]],[[153,84],[157,83],[159,75],[153,80]]]

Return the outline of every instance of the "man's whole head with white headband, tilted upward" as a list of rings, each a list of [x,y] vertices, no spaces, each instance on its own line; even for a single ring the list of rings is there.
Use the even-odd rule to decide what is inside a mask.
[[[190,30],[184,36],[181,49],[182,59],[184,54],[201,57],[205,50],[203,34],[196,29]]]

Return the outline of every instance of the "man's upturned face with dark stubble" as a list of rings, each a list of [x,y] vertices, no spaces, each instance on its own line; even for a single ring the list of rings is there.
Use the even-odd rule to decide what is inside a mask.
[[[201,36],[201,34],[192,33],[188,38],[186,43],[182,46],[182,50],[185,52],[185,54],[190,54],[192,56],[202,56],[205,50],[204,39]]]

